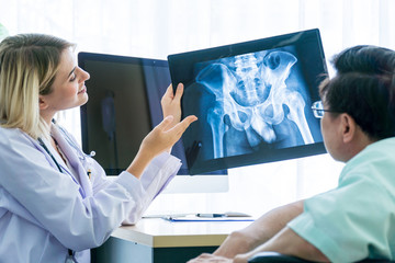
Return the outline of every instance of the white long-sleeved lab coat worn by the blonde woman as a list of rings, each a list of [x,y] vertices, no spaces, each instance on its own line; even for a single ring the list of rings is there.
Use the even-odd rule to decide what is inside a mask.
[[[122,222],[136,222],[181,165],[162,153],[140,180],[126,171],[109,180],[67,132],[53,125],[52,135],[77,180],[48,141],[63,173],[38,141],[0,127],[0,262],[63,263],[68,249],[77,251],[78,262],[90,262],[89,249],[101,245]]]

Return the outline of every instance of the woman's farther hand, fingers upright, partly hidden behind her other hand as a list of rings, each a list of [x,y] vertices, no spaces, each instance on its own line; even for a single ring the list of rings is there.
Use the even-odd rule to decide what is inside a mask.
[[[173,93],[172,85],[170,84],[168,89],[166,90],[160,104],[163,112],[163,118],[167,116],[172,115],[173,121],[171,123],[171,126],[173,127],[176,124],[178,124],[181,121],[181,96],[183,93],[183,84],[179,83],[177,85],[176,94]]]

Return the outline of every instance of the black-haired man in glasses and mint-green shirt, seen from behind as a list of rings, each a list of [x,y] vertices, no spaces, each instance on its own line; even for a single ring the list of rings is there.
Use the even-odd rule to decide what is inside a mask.
[[[327,151],[346,162],[339,185],[269,211],[191,263],[247,262],[261,251],[321,262],[395,259],[395,52],[356,46],[334,65],[337,76],[320,84],[313,111]]]

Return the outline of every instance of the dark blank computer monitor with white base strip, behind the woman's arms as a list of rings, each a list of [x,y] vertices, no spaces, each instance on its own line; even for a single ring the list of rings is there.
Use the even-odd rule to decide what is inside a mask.
[[[162,121],[160,100],[170,84],[168,64],[84,52],[78,54],[78,64],[90,75],[86,83],[89,101],[80,108],[82,149],[94,151],[106,174],[116,175],[129,165],[144,137]],[[228,190],[227,170],[190,176],[181,140],[171,153],[181,159],[182,167],[166,193]]]

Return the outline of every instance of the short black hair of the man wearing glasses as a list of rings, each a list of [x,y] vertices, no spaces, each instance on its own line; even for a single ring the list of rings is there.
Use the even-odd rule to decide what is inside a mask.
[[[328,114],[349,114],[372,140],[395,136],[395,52],[356,46],[334,65],[336,77],[319,88]]]

